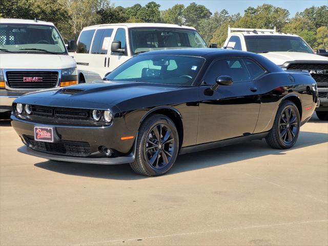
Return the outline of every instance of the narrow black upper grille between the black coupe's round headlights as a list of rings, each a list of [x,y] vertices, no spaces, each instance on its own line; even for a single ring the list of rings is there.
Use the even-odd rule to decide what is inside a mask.
[[[65,119],[91,119],[90,110],[52,108],[32,105],[32,112],[35,115],[65,118]]]

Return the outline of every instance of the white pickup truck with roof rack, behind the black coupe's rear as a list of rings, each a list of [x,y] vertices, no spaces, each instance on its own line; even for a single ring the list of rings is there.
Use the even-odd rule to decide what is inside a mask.
[[[267,57],[284,70],[308,71],[317,82],[319,119],[328,120],[328,57],[315,54],[298,35],[276,32],[275,29],[228,27],[224,49],[255,52]]]

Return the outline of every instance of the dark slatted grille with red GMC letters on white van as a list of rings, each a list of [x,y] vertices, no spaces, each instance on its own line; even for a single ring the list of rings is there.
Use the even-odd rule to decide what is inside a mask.
[[[52,88],[58,81],[56,71],[7,71],[6,75],[11,88]]]

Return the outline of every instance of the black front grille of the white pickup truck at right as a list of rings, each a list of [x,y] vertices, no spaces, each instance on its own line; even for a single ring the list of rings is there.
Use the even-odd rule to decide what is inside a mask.
[[[314,71],[318,70],[326,70],[328,71],[328,63],[292,63],[287,69],[289,70],[305,70],[305,71]],[[319,74],[319,73],[311,73],[311,76],[316,80],[318,87],[322,87],[328,83],[328,74]],[[321,84],[321,85],[320,85]]]

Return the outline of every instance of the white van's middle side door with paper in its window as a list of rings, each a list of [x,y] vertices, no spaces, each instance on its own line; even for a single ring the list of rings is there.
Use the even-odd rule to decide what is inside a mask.
[[[92,41],[89,68],[90,71],[99,75],[99,78],[103,78],[109,71],[109,57],[107,52],[110,49],[110,40],[113,33],[113,28],[99,27],[94,34]]]

